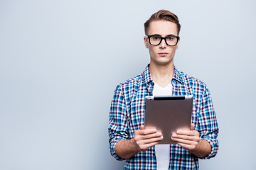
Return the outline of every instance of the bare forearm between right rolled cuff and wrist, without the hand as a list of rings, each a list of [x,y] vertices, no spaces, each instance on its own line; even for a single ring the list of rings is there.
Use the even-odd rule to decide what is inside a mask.
[[[206,140],[199,140],[198,145],[195,149],[190,150],[191,154],[196,155],[196,157],[206,157],[211,152],[210,143]]]

